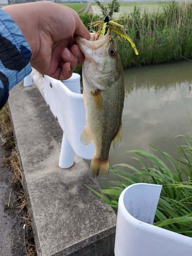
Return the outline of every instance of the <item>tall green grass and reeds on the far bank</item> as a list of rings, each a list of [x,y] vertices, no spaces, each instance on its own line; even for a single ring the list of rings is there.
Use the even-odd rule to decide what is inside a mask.
[[[80,17],[88,27],[91,16]],[[139,52],[136,56],[129,42],[116,37],[124,68],[192,57],[192,3],[173,2],[153,11],[135,7],[124,18],[123,25]]]

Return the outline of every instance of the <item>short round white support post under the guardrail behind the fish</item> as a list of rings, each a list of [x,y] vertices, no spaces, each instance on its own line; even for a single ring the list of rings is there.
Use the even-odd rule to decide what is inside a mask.
[[[63,169],[70,168],[74,163],[74,158],[75,152],[70,145],[68,139],[66,138],[65,134],[63,133],[59,157],[59,167]]]

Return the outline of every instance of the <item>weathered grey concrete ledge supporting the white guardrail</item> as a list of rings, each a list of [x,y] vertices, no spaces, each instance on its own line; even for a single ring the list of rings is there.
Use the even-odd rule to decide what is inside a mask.
[[[9,109],[38,256],[113,253],[116,214],[84,186],[101,191],[80,157],[58,166],[62,131],[36,86],[14,87]]]

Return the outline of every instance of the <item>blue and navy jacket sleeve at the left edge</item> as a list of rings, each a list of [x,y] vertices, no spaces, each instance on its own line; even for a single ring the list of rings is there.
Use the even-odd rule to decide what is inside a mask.
[[[31,73],[31,48],[11,16],[0,8],[0,109],[9,91]]]

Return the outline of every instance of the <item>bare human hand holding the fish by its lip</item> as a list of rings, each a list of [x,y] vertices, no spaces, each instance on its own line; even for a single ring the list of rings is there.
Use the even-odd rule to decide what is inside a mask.
[[[31,66],[58,80],[72,76],[84,60],[73,35],[89,39],[90,33],[71,8],[50,2],[3,8],[24,34],[32,50]]]

